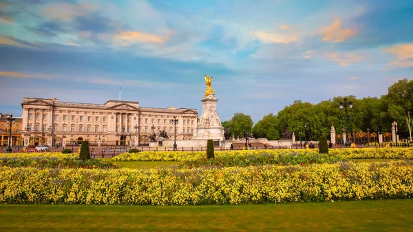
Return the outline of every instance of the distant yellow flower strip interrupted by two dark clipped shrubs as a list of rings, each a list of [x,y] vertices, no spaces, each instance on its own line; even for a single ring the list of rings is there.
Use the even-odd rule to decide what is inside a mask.
[[[413,148],[355,148],[355,149],[329,149],[330,156],[340,156],[344,159],[353,158],[394,158],[413,159]],[[316,156],[318,149],[261,149],[261,150],[237,150],[215,151],[215,157],[246,156],[246,155],[271,155],[284,156],[285,154],[306,154]],[[199,160],[206,157],[202,151],[142,151],[139,153],[125,153],[113,158],[116,161],[186,161]]]

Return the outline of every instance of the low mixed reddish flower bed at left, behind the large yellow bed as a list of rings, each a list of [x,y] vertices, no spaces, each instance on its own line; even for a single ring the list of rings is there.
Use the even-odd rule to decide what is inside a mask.
[[[0,167],[36,167],[36,168],[83,168],[83,169],[113,169],[112,162],[101,159],[78,160],[75,158],[1,158]]]

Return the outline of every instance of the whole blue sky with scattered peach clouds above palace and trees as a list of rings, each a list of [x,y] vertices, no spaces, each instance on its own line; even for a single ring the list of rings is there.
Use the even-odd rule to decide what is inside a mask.
[[[2,0],[0,112],[24,97],[257,123],[295,100],[380,97],[413,78],[412,0]],[[338,107],[338,106],[337,106]]]

